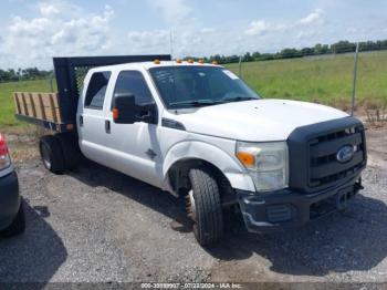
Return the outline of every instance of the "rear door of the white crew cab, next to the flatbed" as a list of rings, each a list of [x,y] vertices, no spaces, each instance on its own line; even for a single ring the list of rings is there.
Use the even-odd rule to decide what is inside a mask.
[[[81,151],[87,158],[101,164],[106,160],[104,104],[111,75],[108,71],[94,72],[91,75],[77,110]]]

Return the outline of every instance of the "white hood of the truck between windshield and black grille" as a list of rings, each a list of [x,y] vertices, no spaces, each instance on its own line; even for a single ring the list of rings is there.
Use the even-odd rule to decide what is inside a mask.
[[[284,141],[300,126],[346,117],[333,107],[286,100],[253,100],[168,116],[188,132],[250,142]]]

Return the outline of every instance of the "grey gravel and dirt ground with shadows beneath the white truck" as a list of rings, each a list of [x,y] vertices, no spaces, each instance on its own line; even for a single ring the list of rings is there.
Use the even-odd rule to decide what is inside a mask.
[[[367,131],[365,189],[344,214],[252,235],[242,220],[205,250],[182,204],[91,162],[55,176],[31,136],[10,135],[27,231],[0,240],[0,281],[387,282],[387,130]]]

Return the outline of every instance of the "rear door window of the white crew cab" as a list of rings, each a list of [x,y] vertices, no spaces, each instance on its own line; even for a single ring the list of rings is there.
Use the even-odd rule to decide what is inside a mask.
[[[85,107],[102,110],[104,106],[104,100],[108,80],[111,79],[111,72],[96,72],[93,73],[90,80]]]

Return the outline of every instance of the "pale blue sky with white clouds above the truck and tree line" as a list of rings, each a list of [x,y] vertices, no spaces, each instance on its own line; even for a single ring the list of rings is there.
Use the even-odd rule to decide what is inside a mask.
[[[0,68],[52,56],[276,52],[387,39],[386,0],[2,0]],[[171,41],[172,40],[172,41]]]

